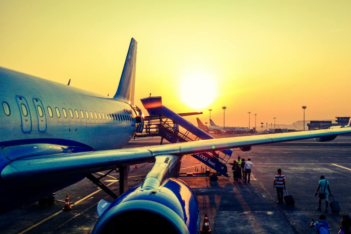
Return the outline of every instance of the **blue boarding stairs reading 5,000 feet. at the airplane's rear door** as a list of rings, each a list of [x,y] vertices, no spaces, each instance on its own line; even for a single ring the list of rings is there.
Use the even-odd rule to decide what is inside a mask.
[[[143,103],[150,116],[145,118],[145,132],[137,136],[161,136],[161,145],[163,139],[166,139],[170,143],[214,139],[211,135],[185,120],[179,114],[163,106],[160,96],[141,99],[141,103]],[[183,127],[186,132],[180,132],[179,126]],[[192,156],[208,167],[216,170],[217,173],[219,173],[218,175],[229,177],[226,164],[232,152],[232,149],[225,149],[222,151],[216,151],[216,149],[214,149],[213,152],[193,154]],[[216,179],[217,174],[209,173],[209,175],[210,174],[212,179]]]

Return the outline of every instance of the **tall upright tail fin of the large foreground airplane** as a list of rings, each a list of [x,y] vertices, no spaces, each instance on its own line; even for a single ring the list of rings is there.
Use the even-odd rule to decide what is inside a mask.
[[[137,60],[137,44],[138,42],[132,38],[129,45],[126,61],[119,80],[116,94],[113,98],[120,99],[134,105],[134,86],[135,86],[135,68]]]

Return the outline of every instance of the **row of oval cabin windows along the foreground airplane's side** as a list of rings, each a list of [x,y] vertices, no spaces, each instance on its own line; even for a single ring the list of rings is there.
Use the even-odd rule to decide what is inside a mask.
[[[23,103],[21,103],[20,105],[21,107],[21,110],[22,110],[22,114],[24,116],[27,116],[28,115],[28,111],[27,111],[27,106],[24,105]],[[4,109],[4,113],[9,116],[11,115],[11,109],[10,109],[10,106],[8,105],[7,102],[2,102],[2,108]],[[44,110],[41,108],[40,105],[37,105],[37,111],[38,111],[38,115],[40,117],[43,117],[44,116]],[[54,114],[53,114],[53,111],[52,111],[52,108],[51,107],[47,107],[47,112],[49,114],[49,116],[51,118],[53,118]],[[56,116],[57,118],[60,118],[61,117],[61,112],[60,112],[60,109],[58,107],[55,107],[55,112],[56,112]],[[77,110],[77,109],[74,109],[74,114],[73,114],[73,111],[71,108],[68,109],[68,113],[69,113],[69,116],[71,117],[71,119],[74,118],[74,114],[75,114],[75,117],[77,119],[79,118],[91,118],[91,119],[97,119],[97,120],[118,120],[118,121],[134,121],[134,118],[131,118],[130,115],[125,115],[125,114],[107,114],[107,113],[104,113],[104,112],[88,112],[88,111],[85,111],[85,115],[84,115],[84,112],[82,110],[80,110],[80,112]],[[68,114],[67,114],[67,111],[65,108],[62,108],[62,114],[65,118],[68,117]]]

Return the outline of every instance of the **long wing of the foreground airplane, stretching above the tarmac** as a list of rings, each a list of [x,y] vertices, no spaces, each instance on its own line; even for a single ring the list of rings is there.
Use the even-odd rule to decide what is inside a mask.
[[[135,147],[104,151],[65,153],[31,156],[11,161],[1,172],[4,180],[32,180],[45,176],[86,175],[119,165],[152,162],[157,155],[189,155],[223,149],[247,147],[274,142],[318,138],[329,141],[339,134],[351,133],[351,127],[332,128],[304,132],[277,133],[269,135],[238,136],[175,143],[159,146]]]

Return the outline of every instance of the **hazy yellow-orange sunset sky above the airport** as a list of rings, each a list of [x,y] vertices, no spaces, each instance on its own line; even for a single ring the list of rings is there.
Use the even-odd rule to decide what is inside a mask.
[[[145,2],[0,0],[0,66],[112,95],[134,37],[138,106],[151,93],[223,125],[225,105],[225,125],[246,127],[249,111],[251,127],[255,113],[303,120],[301,106],[306,120],[351,115],[351,1]]]

